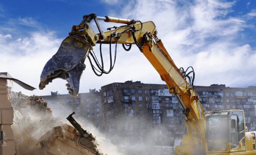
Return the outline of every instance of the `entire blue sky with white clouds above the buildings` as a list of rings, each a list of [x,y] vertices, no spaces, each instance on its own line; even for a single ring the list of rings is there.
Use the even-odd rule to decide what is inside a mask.
[[[196,85],[213,83],[228,87],[256,85],[256,1],[0,1],[1,72],[9,72],[38,88],[44,64],[83,15],[116,16],[142,22],[154,21],[158,38],[178,67],[193,66]],[[109,24],[102,22],[106,30]],[[97,47],[95,47],[97,49]],[[118,48],[119,49],[119,48]],[[87,64],[81,92],[127,80],[164,83],[134,46],[118,50],[113,73],[96,77]],[[125,75],[125,76],[124,76]],[[45,90],[16,91],[44,95],[67,93],[65,81],[55,80]]]

